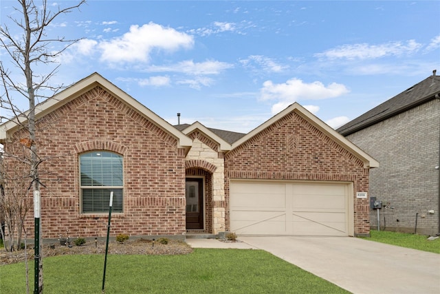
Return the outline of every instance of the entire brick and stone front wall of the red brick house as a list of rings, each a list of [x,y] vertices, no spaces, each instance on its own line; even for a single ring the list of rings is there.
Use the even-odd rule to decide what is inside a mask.
[[[179,148],[177,138],[99,86],[45,114],[36,134],[39,156],[47,158],[40,166],[46,186],[41,189],[43,238],[106,235],[107,213],[81,213],[78,159],[89,151],[123,157],[123,212],[112,214],[112,236],[185,238],[186,176],[204,179],[203,231],[212,234],[230,230],[231,179],[352,182],[354,193],[369,191],[364,162],[300,112],[290,112],[228,152],[199,129],[187,136],[192,147]],[[19,140],[25,137],[16,132],[5,150],[22,150]],[[354,193],[354,233],[369,235],[369,199]],[[25,225],[33,235],[32,209]]]

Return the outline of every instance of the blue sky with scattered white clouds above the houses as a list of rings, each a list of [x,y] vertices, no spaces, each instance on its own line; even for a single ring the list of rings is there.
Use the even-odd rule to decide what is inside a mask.
[[[11,25],[16,2],[0,6]],[[173,125],[250,132],[296,101],[338,127],[440,72],[439,15],[440,1],[88,1],[48,30],[83,38],[52,83],[98,72]]]

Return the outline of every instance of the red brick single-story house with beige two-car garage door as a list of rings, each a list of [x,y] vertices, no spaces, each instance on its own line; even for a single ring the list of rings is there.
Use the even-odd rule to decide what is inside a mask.
[[[41,191],[43,238],[104,236],[110,191],[113,235],[369,235],[357,192],[378,163],[297,103],[249,134],[174,127],[95,73],[36,117],[42,178],[56,179]],[[0,126],[5,151],[25,136]]]

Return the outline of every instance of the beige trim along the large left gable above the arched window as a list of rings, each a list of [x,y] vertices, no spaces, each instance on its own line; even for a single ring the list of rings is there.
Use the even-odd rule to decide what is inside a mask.
[[[163,129],[168,134],[171,134],[179,143],[180,147],[189,147],[192,145],[192,140],[185,136],[183,133],[179,132],[173,125],[170,125],[163,118],[157,116],[150,109],[136,101],[133,97],[126,94],[124,91],[120,90],[120,88],[113,85],[113,83],[109,82],[107,79],[103,78],[100,74],[94,73],[86,78],[83,78],[81,81],[78,81],[71,87],[63,90],[62,92],[56,94],[52,98],[47,99],[43,103],[36,105],[35,107],[35,115],[36,118],[44,116],[50,112],[53,112],[55,109],[65,105],[69,101],[72,101],[74,98],[80,96],[81,94],[88,92],[93,89],[97,85],[100,85],[104,90],[111,93],[113,96],[120,98],[124,103],[129,105],[135,109],[135,111],[139,112],[143,116],[148,117],[149,120],[157,127]],[[25,123],[25,117],[18,118],[20,123]],[[17,127],[17,120],[11,120],[7,123],[3,123],[0,125],[0,142],[3,142],[7,137],[7,132],[14,130]]]

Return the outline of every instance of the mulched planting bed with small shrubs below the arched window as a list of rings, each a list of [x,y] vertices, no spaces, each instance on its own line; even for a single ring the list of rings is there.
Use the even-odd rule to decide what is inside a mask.
[[[43,256],[69,255],[69,254],[105,254],[105,242],[87,241],[81,246],[72,247],[60,246],[55,244],[43,245]],[[53,247],[53,248],[52,248]],[[192,252],[191,246],[183,241],[168,240],[168,244],[162,244],[153,240],[137,239],[126,240],[123,243],[110,241],[109,254],[136,254],[136,255],[179,255]],[[34,247],[28,246],[28,260],[34,259]],[[0,251],[0,265],[23,262],[25,260],[25,251],[6,252]]]

